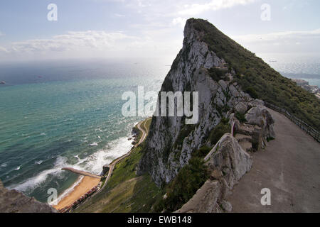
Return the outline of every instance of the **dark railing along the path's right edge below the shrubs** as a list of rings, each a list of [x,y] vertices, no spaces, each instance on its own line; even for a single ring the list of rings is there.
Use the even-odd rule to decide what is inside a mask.
[[[290,119],[293,123],[295,123],[299,128],[301,128],[303,131],[305,131],[307,134],[311,135],[316,141],[320,143],[320,133],[316,131],[314,128],[309,126],[308,124],[304,123],[304,121],[301,121],[299,118],[296,118],[293,114],[289,113],[287,110],[282,109],[278,106],[275,106],[274,104],[270,104],[267,101],[265,101],[265,106],[269,107],[270,109],[273,109],[274,111],[279,112],[280,114],[283,114],[284,116],[287,116],[287,118]]]

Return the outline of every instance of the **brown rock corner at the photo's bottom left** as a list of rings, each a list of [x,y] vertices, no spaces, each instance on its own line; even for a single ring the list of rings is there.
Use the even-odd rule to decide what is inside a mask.
[[[0,213],[56,213],[48,204],[4,187],[0,181]]]

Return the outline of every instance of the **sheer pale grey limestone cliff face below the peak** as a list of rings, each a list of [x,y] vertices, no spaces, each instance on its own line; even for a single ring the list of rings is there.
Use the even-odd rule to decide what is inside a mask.
[[[137,172],[149,172],[157,185],[171,182],[195,150],[213,146],[208,135],[223,118],[245,114],[256,106],[233,82],[234,70],[202,41],[206,34],[196,29],[196,23],[195,19],[187,21],[183,48],[161,92],[198,92],[198,122],[186,125],[185,117],[153,117]]]

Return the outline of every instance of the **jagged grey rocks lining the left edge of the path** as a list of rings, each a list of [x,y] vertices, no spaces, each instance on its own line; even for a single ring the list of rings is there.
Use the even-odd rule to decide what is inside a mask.
[[[274,119],[263,101],[250,102],[251,109],[245,114],[245,123],[240,123],[231,114],[229,123],[235,136],[225,133],[205,157],[210,179],[178,213],[220,213],[232,211],[232,205],[225,201],[245,173],[252,167],[249,152],[264,148],[267,140],[274,138]]]

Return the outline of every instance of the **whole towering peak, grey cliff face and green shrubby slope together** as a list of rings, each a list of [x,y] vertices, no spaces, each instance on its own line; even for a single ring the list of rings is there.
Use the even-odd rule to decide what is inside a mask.
[[[252,98],[282,106],[319,127],[315,97],[201,19],[187,21],[183,48],[161,87],[161,92],[178,91],[199,92],[199,118],[186,125],[186,117],[153,117],[137,173],[149,172],[158,186],[171,182],[196,150],[212,148],[228,132],[213,138],[219,134],[215,128],[227,128],[220,125],[231,114],[246,121],[244,114],[259,103]],[[272,130],[263,135],[272,136]]]

